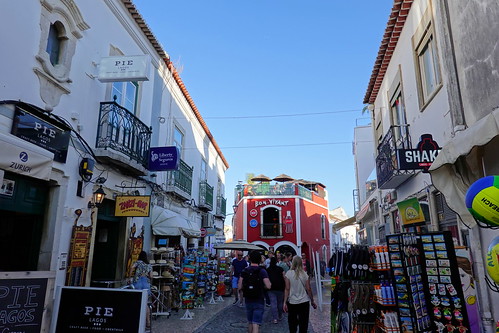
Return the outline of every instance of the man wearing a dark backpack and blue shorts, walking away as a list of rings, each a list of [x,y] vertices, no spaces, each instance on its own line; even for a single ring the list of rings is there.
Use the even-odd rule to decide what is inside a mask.
[[[248,319],[248,332],[258,333],[263,320],[265,309],[264,290],[271,288],[269,275],[265,267],[261,267],[260,252],[250,252],[250,266],[246,267],[239,278],[239,289],[243,290],[246,303],[246,318]]]

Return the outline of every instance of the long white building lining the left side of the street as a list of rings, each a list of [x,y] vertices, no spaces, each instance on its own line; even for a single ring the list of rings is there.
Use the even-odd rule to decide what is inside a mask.
[[[54,286],[113,285],[141,248],[211,247],[228,163],[134,4],[6,1],[0,31],[0,280],[45,281],[41,327]],[[165,146],[178,169],[149,171]]]

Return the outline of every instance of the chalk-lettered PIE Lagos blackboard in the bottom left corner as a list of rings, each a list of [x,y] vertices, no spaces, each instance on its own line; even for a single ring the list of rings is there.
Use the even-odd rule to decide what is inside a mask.
[[[41,331],[47,279],[0,280],[0,332]]]

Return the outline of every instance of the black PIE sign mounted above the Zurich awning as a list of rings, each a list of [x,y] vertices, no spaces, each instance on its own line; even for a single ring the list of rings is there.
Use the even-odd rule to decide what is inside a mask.
[[[54,154],[54,161],[66,163],[71,131],[64,124],[16,106],[11,133],[50,151]]]

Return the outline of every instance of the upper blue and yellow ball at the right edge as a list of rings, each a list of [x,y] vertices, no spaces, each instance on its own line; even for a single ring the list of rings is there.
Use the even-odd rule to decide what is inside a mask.
[[[466,192],[466,207],[477,220],[499,226],[499,176],[474,182]]]

